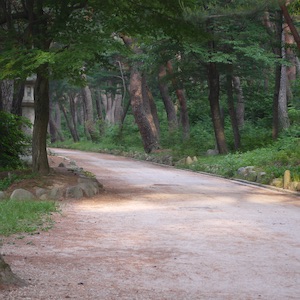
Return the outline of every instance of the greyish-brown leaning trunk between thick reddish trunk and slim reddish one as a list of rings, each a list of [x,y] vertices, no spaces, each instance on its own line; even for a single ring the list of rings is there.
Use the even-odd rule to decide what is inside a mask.
[[[160,66],[158,74],[158,88],[167,113],[169,131],[172,132],[178,128],[178,121],[176,109],[170,97],[168,86],[164,83],[166,75],[166,68],[164,66]]]

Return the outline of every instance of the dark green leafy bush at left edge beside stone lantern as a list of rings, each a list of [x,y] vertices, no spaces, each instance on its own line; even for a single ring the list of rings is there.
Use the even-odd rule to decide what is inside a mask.
[[[21,166],[20,154],[24,154],[30,138],[22,131],[22,126],[31,126],[22,117],[0,111],[0,168]]]

